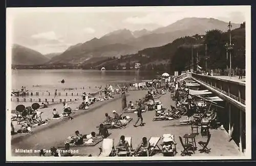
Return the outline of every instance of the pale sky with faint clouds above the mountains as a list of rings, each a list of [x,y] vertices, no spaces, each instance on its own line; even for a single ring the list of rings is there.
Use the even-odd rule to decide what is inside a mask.
[[[119,29],[151,31],[186,17],[242,23],[248,10],[246,6],[7,8],[7,38],[11,44],[47,54]]]

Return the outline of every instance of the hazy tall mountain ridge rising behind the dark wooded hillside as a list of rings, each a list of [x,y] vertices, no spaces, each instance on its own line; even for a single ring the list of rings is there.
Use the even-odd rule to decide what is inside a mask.
[[[66,51],[55,54],[49,60],[49,64],[82,64],[84,62],[96,62],[100,58],[119,58],[126,54],[134,54],[144,48],[162,46],[173,42],[177,38],[204,35],[206,31],[218,29],[226,32],[228,23],[214,18],[184,18],[168,26],[160,27],[153,31],[146,29],[130,31],[118,30],[93,38],[84,43],[78,43],[69,47]],[[240,24],[232,24],[236,29]],[[44,56],[45,57],[45,56]]]

